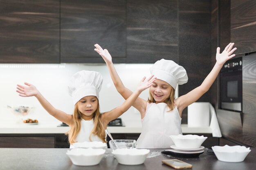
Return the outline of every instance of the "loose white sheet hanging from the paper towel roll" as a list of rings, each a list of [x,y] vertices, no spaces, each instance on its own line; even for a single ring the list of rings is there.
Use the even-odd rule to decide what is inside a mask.
[[[210,115],[211,115],[210,128],[212,131],[212,136],[213,137],[222,137],[215,109],[211,105],[211,103],[209,103],[209,107],[210,107]]]

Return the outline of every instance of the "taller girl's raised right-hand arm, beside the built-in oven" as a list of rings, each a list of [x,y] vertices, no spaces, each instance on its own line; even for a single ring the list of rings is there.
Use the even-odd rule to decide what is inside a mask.
[[[233,48],[234,43],[229,43],[225,50],[220,54],[220,48],[217,48],[216,52],[216,63],[211,70],[211,72],[208,74],[208,76],[204,79],[203,83],[199,86],[193,89],[191,92],[180,96],[175,100],[177,108],[179,110],[180,116],[184,108],[191,105],[193,102],[198,100],[204,93],[206,93],[215,79],[217,78],[220,69],[222,68],[223,64],[235,56],[233,52],[236,50],[236,48]],[[233,48],[233,49],[232,49]]]

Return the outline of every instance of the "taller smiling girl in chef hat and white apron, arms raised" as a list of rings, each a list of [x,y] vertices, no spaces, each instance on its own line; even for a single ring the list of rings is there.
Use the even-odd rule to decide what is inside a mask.
[[[177,85],[182,85],[188,81],[186,70],[171,60],[161,59],[154,63],[150,68],[150,73],[155,75],[157,79],[149,89],[148,100],[137,98],[132,105],[140,112],[142,122],[142,132],[137,140],[137,148],[168,148],[173,145],[169,135],[182,134],[181,116],[183,109],[197,101],[209,90],[222,65],[235,56],[232,54],[236,50],[233,46],[234,43],[230,43],[222,53],[218,47],[216,64],[203,83],[176,99],[174,94]],[[125,99],[128,98],[132,92],[124,86],[119,78],[108,50],[103,50],[98,44],[95,44],[95,47],[94,50],[106,62],[117,91]]]

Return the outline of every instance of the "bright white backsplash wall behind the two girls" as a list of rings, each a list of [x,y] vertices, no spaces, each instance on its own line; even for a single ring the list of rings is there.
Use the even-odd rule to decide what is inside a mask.
[[[152,64],[115,64],[124,85],[134,91],[143,76],[150,76]],[[72,114],[72,98],[67,93],[70,77],[81,70],[93,70],[103,76],[103,85],[99,102],[101,112],[109,111],[124,102],[115,89],[105,64],[0,64],[0,122],[15,122],[17,116],[7,109],[7,105],[32,105],[34,109],[26,118],[38,119],[40,123],[58,123],[40,105],[35,97],[20,97],[16,84],[27,81],[37,87],[45,98],[56,108]],[[148,89],[141,93],[141,98],[148,97]],[[121,118],[126,125],[140,124],[140,115],[130,108]]]

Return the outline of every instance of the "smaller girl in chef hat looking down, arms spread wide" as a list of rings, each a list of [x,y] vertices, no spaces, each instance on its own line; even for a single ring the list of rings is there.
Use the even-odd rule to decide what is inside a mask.
[[[70,147],[73,148],[72,144],[75,142],[106,142],[107,124],[127,111],[139,94],[150,87],[154,81],[155,77],[153,76],[148,79],[142,78],[137,90],[121,106],[103,114],[99,111],[99,92],[103,82],[99,72],[83,70],[74,74],[70,79],[68,92],[74,103],[72,115],[54,108],[32,84],[17,85],[16,92],[22,97],[35,96],[49,114],[68,124],[70,126],[70,130],[67,132],[68,139]]]

